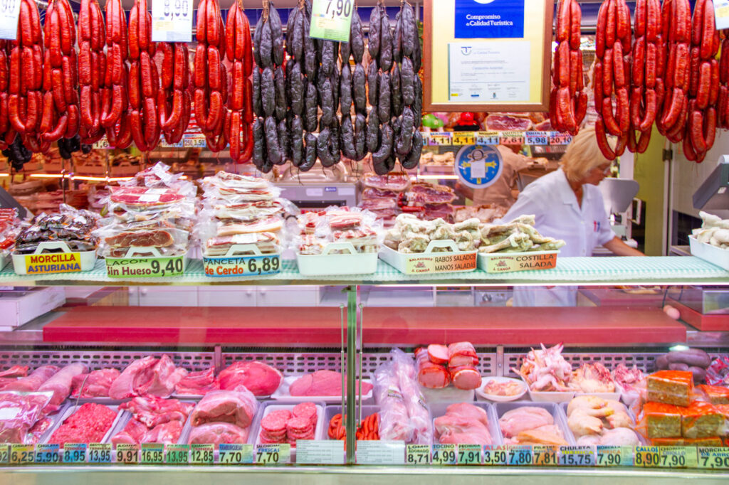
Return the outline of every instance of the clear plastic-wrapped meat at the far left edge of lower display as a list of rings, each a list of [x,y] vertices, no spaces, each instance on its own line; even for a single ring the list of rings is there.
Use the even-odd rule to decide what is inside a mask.
[[[51,393],[0,393],[0,443],[25,443],[28,431],[43,416]]]

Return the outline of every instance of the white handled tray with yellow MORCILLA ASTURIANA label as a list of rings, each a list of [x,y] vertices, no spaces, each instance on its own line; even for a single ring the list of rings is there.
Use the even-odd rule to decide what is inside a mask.
[[[46,249],[60,249],[61,253],[43,253]],[[96,251],[74,253],[63,241],[41,242],[32,254],[12,255],[12,267],[16,275],[49,275],[90,271],[95,264]]]

